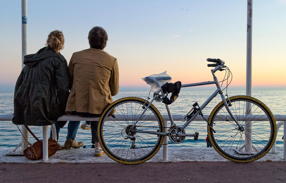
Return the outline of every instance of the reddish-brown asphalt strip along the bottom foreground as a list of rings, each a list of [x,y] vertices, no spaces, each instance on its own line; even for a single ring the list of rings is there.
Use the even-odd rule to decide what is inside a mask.
[[[286,162],[0,163],[0,182],[286,182]]]

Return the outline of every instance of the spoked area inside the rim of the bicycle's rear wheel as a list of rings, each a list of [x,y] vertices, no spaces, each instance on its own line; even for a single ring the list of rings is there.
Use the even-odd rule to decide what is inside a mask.
[[[161,124],[155,112],[150,108],[139,118],[144,109],[141,102],[122,102],[115,109],[114,117],[105,117],[103,124],[104,143],[111,153],[126,160],[140,159],[148,156],[159,145],[161,136],[132,132],[135,138],[135,149],[131,148],[133,140],[129,137],[131,127],[148,131],[162,131]],[[111,111],[111,109],[110,109]],[[121,137],[121,138],[120,138]]]

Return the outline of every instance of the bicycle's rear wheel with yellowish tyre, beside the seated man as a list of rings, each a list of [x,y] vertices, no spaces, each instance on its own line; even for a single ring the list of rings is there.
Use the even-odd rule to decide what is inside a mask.
[[[99,119],[99,143],[104,152],[119,163],[143,163],[152,158],[163,143],[162,135],[133,131],[131,135],[135,137],[135,148],[131,148],[133,141],[127,135],[149,104],[146,102],[144,105],[145,102],[146,100],[137,97],[118,99],[105,109]],[[114,115],[110,116],[111,113]],[[134,129],[165,132],[163,118],[153,104],[140,117]]]

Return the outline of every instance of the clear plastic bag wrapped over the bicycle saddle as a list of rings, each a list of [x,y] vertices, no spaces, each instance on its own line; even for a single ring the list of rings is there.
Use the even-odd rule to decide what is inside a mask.
[[[161,86],[163,86],[167,82],[170,83],[170,81],[172,80],[171,76],[166,73],[167,71],[159,73],[159,74],[152,74],[142,79],[148,85],[151,85],[151,91],[156,92],[156,91],[159,91]]]

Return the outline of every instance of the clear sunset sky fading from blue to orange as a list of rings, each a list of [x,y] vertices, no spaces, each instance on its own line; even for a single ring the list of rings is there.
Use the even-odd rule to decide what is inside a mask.
[[[148,88],[141,78],[165,70],[173,82],[211,81],[207,58],[226,61],[231,86],[245,87],[246,3],[28,0],[28,54],[58,29],[69,61],[89,48],[89,30],[101,26],[109,38],[104,51],[118,59],[120,89]],[[253,87],[286,88],[285,10],[286,0],[253,2]],[[1,2],[0,15],[0,91],[12,91],[21,72],[21,1]]]

